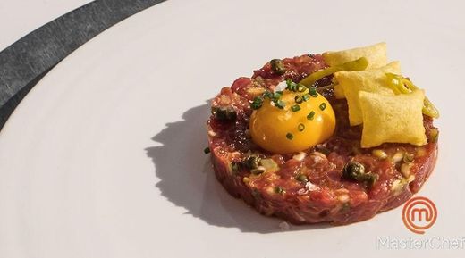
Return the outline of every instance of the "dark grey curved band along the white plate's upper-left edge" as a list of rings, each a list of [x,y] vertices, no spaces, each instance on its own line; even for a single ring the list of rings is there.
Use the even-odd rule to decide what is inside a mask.
[[[119,21],[165,0],[97,0],[0,52],[0,129],[40,79],[76,48]]]

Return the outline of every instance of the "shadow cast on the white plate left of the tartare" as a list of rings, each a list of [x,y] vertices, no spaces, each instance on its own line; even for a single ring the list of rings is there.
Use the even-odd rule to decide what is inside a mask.
[[[282,220],[260,215],[240,199],[230,196],[216,181],[207,146],[206,120],[209,105],[191,108],[182,121],[166,124],[152,139],[161,146],[146,149],[155,164],[156,183],[170,202],[185,208],[210,225],[237,228],[243,232],[273,233]],[[288,230],[324,229],[326,224],[293,226]]]

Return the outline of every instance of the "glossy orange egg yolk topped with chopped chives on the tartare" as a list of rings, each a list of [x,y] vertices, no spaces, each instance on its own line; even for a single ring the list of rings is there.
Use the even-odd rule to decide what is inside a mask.
[[[268,98],[252,112],[249,123],[254,143],[275,154],[300,152],[331,137],[335,128],[334,111],[324,96],[309,96],[296,106],[296,96],[308,93],[283,91],[280,109]]]

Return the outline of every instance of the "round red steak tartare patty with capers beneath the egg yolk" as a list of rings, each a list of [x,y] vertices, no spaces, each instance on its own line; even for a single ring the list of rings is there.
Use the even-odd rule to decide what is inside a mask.
[[[384,143],[363,148],[362,125],[350,125],[347,101],[334,96],[332,75],[314,83],[334,110],[331,137],[287,154],[270,153],[254,143],[249,130],[254,99],[265,90],[275,91],[283,81],[298,83],[328,67],[321,54],[279,62],[282,71],[267,62],[251,78],[241,77],[222,88],[211,102],[208,148],[216,179],[232,196],[293,224],[347,224],[393,209],[418,192],[435,166],[438,129],[433,119],[423,115],[426,145]],[[364,179],[351,178],[360,172]]]

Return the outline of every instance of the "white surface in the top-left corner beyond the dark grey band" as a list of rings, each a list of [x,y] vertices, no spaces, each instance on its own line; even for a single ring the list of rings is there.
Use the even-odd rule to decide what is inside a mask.
[[[91,0],[1,0],[0,51],[34,29]]]

